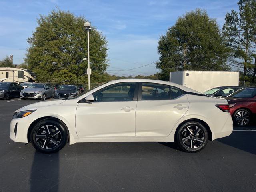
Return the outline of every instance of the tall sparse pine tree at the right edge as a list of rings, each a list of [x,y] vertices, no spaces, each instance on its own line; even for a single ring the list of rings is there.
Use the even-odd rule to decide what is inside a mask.
[[[243,76],[253,68],[256,48],[256,1],[239,0],[239,12],[226,14],[222,28],[226,44],[232,50],[228,59],[231,66],[243,70]],[[255,76],[255,73],[254,73]]]

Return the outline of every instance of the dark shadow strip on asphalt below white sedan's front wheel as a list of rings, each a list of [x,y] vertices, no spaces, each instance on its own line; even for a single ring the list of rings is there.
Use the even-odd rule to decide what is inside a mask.
[[[35,152],[30,174],[30,192],[57,192],[59,187],[59,154]]]

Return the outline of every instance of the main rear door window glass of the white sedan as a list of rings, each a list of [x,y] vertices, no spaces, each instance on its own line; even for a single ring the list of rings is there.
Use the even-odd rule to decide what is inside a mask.
[[[142,83],[141,100],[170,99],[170,86],[161,84]]]

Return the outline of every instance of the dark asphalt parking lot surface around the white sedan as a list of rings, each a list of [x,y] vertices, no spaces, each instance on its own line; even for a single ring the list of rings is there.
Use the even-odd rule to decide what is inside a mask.
[[[67,144],[55,154],[9,138],[13,112],[34,100],[0,100],[0,192],[256,191],[256,126],[188,154],[173,143]]]

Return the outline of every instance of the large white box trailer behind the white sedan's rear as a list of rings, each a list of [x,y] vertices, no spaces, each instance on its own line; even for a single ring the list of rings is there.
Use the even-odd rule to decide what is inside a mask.
[[[199,92],[218,86],[238,86],[239,72],[233,71],[175,71],[170,72],[170,82]]]

